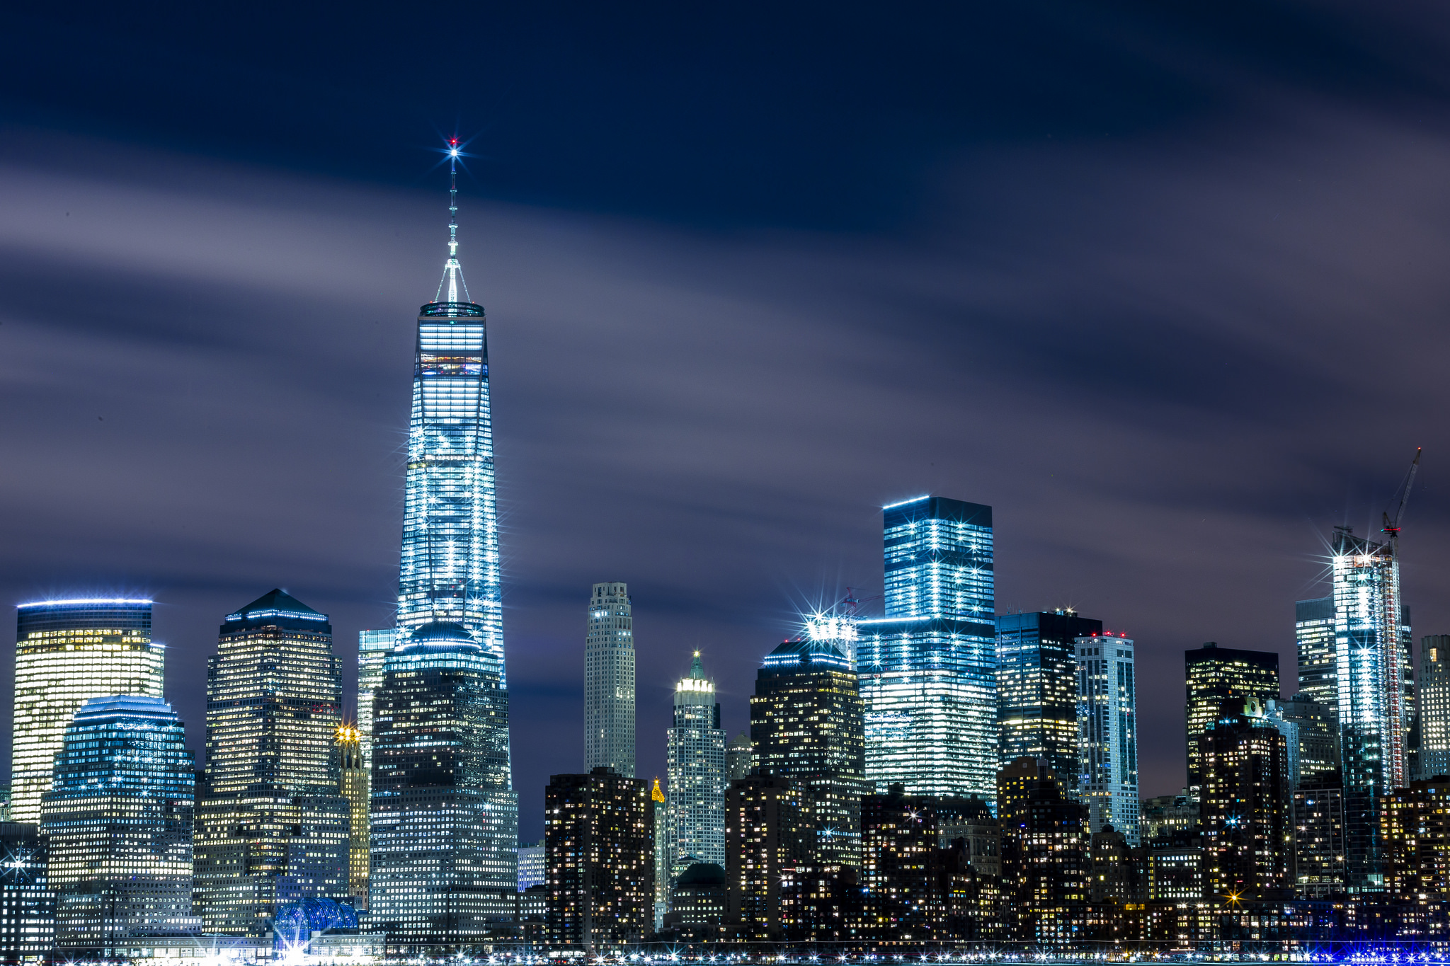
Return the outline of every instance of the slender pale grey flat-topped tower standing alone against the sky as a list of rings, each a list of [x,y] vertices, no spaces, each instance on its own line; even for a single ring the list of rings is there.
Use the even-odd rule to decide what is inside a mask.
[[[625,584],[594,584],[584,637],[584,770],[634,778],[634,617]]]

